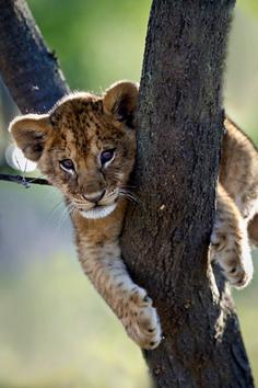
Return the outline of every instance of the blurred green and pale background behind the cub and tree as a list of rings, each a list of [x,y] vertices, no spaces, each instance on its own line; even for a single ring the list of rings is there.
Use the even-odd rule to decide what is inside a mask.
[[[101,92],[140,79],[150,0],[28,0],[72,89]],[[225,106],[258,142],[258,2],[239,0],[231,33]],[[9,121],[0,87],[0,171]],[[247,172],[248,173],[248,172]],[[69,217],[51,187],[0,182],[0,388],[146,388],[146,367],[89,281]],[[255,258],[258,270],[258,258]],[[258,383],[258,275],[234,292]]]

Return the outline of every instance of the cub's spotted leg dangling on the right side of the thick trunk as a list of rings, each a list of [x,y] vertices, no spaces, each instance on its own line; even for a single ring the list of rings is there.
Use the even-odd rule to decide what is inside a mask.
[[[254,270],[246,221],[220,183],[211,235],[211,260],[220,264],[228,282],[236,287],[244,287],[251,279]]]

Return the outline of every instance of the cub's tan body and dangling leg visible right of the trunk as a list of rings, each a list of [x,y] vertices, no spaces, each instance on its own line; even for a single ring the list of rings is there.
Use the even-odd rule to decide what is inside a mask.
[[[258,242],[258,153],[249,138],[230,119],[222,145],[216,216],[211,259],[219,262],[232,285],[246,286],[253,277],[249,241]],[[248,237],[249,232],[249,237]]]

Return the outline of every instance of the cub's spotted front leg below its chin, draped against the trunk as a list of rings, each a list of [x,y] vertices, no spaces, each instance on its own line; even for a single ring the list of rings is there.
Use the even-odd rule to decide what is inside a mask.
[[[97,225],[97,221],[94,222]],[[120,259],[118,239],[78,236],[79,259],[95,288],[122,322],[127,334],[143,349],[161,342],[161,326],[152,299],[130,278]]]

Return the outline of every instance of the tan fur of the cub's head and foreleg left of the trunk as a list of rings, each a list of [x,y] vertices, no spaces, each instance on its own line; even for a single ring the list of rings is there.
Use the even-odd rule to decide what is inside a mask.
[[[128,335],[141,347],[154,349],[161,341],[156,310],[146,292],[130,278],[118,241],[125,196],[131,195],[125,185],[136,157],[137,100],[136,84],[118,82],[103,96],[75,93],[58,102],[48,115],[17,117],[10,130],[24,155],[37,161],[40,171],[63,193],[84,272]],[[106,149],[116,151],[115,159],[104,168],[99,158]],[[63,159],[73,161],[74,172],[60,168]],[[116,208],[104,218],[85,218],[94,215],[93,199],[103,191],[99,209]]]

